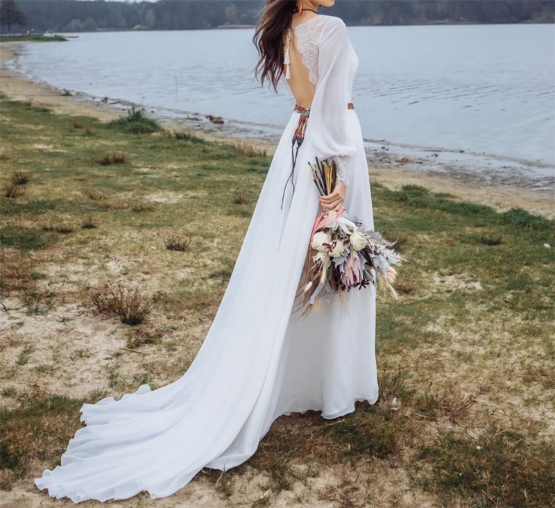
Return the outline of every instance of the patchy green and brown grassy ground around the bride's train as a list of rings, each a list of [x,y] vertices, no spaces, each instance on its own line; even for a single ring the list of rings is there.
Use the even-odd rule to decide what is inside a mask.
[[[0,99],[0,185],[26,189],[0,195],[1,489],[56,466],[84,400],[178,379],[223,297],[271,160],[147,120]],[[377,405],[282,416],[200,476],[230,506],[247,484],[257,507],[549,506],[555,221],[414,185],[373,182],[373,205],[412,262],[379,292]]]

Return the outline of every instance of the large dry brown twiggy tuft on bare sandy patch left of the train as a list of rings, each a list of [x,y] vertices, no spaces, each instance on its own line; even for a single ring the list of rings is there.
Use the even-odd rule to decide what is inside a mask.
[[[96,310],[102,314],[118,316],[121,323],[140,325],[153,309],[153,300],[144,296],[139,289],[127,289],[110,282],[92,295]]]

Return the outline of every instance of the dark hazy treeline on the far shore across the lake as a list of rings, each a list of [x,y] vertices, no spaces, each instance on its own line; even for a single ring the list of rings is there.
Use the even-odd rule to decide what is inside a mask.
[[[5,0],[4,0],[5,1]],[[265,0],[120,2],[15,0],[12,31],[187,30],[254,25]],[[1,10],[0,0],[0,10]],[[348,25],[555,22],[554,0],[341,0],[327,10]],[[7,32],[0,12],[0,33]]]

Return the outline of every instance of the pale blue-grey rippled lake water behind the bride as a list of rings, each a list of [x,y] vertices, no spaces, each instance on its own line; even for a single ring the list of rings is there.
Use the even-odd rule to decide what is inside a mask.
[[[555,164],[555,26],[349,28],[364,137]],[[253,81],[252,30],[85,33],[28,44],[24,71],[60,88],[256,124],[293,99]],[[553,171],[547,168],[547,173]]]

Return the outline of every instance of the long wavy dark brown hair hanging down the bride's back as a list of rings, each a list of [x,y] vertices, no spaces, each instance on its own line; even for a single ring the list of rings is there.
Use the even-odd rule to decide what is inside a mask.
[[[269,81],[276,92],[283,74],[283,34],[296,9],[296,0],[268,0],[253,37],[259,56],[255,76],[262,86]]]

